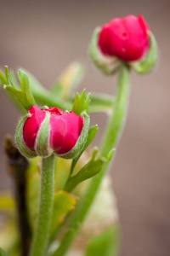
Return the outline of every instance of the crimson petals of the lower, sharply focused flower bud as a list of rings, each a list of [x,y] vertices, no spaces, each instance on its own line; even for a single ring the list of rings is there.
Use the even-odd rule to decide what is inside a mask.
[[[48,124],[48,147],[55,154],[68,153],[77,143],[84,120],[76,113],[65,113],[59,108],[41,110],[36,106],[30,108],[31,117],[26,119],[23,126],[23,139],[26,147],[36,151],[38,133],[47,113],[50,115]]]

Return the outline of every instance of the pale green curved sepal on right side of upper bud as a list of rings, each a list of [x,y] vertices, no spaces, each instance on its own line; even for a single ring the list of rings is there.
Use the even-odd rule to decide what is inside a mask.
[[[135,61],[130,64],[137,73],[143,74],[148,73],[150,70],[156,65],[156,61],[158,59],[158,50],[156,44],[156,38],[152,32],[149,32],[150,37],[150,49],[147,55],[144,57],[142,61]]]

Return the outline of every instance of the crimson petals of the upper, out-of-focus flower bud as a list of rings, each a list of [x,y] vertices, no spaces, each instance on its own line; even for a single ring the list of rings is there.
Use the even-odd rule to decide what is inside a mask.
[[[113,19],[101,28],[99,49],[104,55],[123,61],[138,61],[150,48],[149,31],[142,15]]]

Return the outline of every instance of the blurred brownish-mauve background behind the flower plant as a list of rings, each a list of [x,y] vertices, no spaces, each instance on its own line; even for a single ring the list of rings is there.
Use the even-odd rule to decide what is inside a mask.
[[[91,63],[88,44],[96,26],[114,17],[144,15],[160,49],[156,71],[132,74],[127,123],[111,167],[122,227],[121,256],[170,255],[170,1],[0,0],[0,66],[25,67],[47,88],[71,61],[81,61],[86,76],[81,91],[116,91]],[[0,190],[11,189],[3,137],[14,134],[19,113],[0,91]],[[105,114],[95,143],[105,129]]]

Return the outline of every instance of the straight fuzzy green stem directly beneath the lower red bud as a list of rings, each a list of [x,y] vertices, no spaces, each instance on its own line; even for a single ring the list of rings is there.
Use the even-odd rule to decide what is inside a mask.
[[[54,206],[54,154],[42,158],[40,204],[31,256],[45,255]]]

